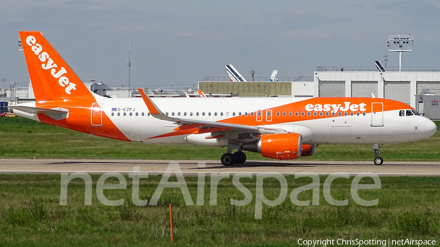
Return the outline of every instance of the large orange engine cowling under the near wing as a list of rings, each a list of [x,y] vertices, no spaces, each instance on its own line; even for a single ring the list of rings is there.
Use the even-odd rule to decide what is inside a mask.
[[[262,135],[259,147],[264,157],[292,160],[301,157],[303,136],[297,133]]]

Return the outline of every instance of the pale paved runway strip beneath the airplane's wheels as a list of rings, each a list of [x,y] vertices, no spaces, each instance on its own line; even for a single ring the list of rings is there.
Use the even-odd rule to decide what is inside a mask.
[[[385,165],[373,165],[370,162],[353,161],[246,161],[242,165],[223,166],[217,160],[65,160],[65,159],[0,159],[0,174],[40,173],[60,174],[62,172],[86,172],[103,174],[119,172],[128,174],[133,167],[140,166],[141,172],[151,175],[164,174],[170,163],[177,163],[185,176],[198,173],[237,172],[281,173],[316,173],[328,175],[335,172],[347,172],[354,176],[362,172],[373,172],[379,176],[440,176],[440,162],[385,162]],[[198,167],[204,164],[205,167]],[[203,166],[203,165],[201,165]]]

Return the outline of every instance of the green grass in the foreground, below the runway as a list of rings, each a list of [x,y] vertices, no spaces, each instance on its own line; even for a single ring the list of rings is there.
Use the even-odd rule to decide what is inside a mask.
[[[365,200],[378,198],[377,206],[355,204],[350,194],[352,178],[339,178],[331,194],[337,200],[349,199],[349,205],[331,206],[322,192],[326,176],[321,176],[319,206],[295,206],[290,192],[311,180],[286,176],[286,200],[279,206],[264,206],[261,220],[254,219],[255,177],[241,179],[253,195],[247,206],[230,205],[230,198],[244,199],[231,178],[219,183],[218,206],[209,206],[210,177],[206,177],[204,206],[186,206],[177,188],[166,188],[157,206],[133,206],[128,177],[127,189],[104,191],[111,200],[125,199],[124,204],[105,206],[96,198],[99,175],[92,178],[91,206],[84,206],[81,179],[70,182],[67,205],[60,206],[60,175],[1,174],[0,246],[171,246],[169,204],[173,205],[176,246],[296,246],[299,238],[440,241],[440,177],[382,177],[381,189],[359,192]],[[141,199],[151,198],[160,179],[140,180]],[[198,178],[185,180],[195,203]],[[277,180],[265,179],[264,195],[275,199],[279,187]],[[300,193],[298,199],[311,200],[311,191]]]

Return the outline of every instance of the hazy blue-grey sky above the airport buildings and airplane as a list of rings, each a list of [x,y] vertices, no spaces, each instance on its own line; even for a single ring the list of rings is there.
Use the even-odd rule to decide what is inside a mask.
[[[0,3],[0,87],[26,86],[19,31],[40,31],[83,82],[197,86],[227,77],[313,76],[317,66],[374,67],[389,35],[414,36],[404,67],[439,67],[440,1],[15,0]]]

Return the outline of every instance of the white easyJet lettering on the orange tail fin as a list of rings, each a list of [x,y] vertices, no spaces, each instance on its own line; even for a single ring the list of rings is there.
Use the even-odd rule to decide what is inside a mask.
[[[66,93],[70,94],[71,90],[76,90],[76,84],[69,82],[69,79],[66,76],[63,76],[67,73],[66,69],[64,67],[61,67],[57,71],[58,65],[53,62],[53,60],[50,58],[49,54],[47,52],[43,51],[43,47],[41,44],[37,43],[37,40],[34,36],[28,36],[26,38],[26,44],[31,46],[31,50],[35,53],[35,55],[38,56],[38,59],[43,62],[41,64],[41,67],[45,70],[50,69],[50,74],[55,78],[58,79],[58,83],[62,87],[66,87]]]

